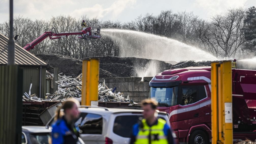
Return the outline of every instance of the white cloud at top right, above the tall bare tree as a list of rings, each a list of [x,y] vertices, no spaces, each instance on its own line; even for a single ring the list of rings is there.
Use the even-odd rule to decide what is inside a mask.
[[[247,0],[195,0],[194,7],[202,8],[208,16],[223,13],[227,8],[243,7]]]

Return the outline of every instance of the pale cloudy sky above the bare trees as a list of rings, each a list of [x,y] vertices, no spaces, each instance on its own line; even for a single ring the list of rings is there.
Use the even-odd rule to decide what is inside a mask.
[[[14,15],[31,19],[50,19],[52,16],[87,15],[100,20],[129,22],[139,15],[158,15],[163,10],[191,12],[203,19],[227,8],[256,6],[256,0],[13,0]],[[0,0],[0,23],[9,18],[9,1]]]

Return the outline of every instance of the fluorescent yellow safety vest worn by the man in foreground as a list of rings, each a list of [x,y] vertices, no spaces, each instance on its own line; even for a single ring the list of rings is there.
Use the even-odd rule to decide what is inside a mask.
[[[139,127],[139,132],[134,144],[149,144],[150,138],[150,144],[168,144],[167,137],[164,135],[165,120],[159,118],[157,125],[153,125],[152,127],[147,125],[146,119],[142,119],[141,122],[143,127]]]

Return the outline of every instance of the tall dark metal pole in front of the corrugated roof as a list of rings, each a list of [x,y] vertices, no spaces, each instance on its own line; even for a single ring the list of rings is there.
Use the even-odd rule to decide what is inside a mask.
[[[13,0],[10,0],[10,36],[8,41],[8,65],[14,65],[14,40],[13,40]]]

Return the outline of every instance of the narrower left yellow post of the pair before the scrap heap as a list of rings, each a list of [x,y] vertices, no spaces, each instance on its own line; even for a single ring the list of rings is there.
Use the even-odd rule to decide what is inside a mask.
[[[81,96],[81,105],[86,105],[87,63],[88,63],[88,60],[83,60],[83,66],[82,66],[82,96]]]

